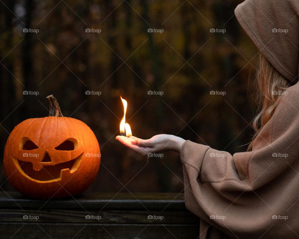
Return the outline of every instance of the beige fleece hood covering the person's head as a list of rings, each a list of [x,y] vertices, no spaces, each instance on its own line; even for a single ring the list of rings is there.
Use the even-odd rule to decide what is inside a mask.
[[[250,39],[292,83],[298,82],[299,1],[246,0],[235,15]]]

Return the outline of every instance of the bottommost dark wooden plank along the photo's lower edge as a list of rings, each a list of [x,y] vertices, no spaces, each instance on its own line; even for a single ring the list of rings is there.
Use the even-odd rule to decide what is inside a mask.
[[[1,239],[196,239],[199,226],[161,224],[0,223]]]

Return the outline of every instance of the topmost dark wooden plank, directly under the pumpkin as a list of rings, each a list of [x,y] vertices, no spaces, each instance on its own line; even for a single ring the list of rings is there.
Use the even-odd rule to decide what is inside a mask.
[[[7,195],[8,194],[8,195]],[[18,192],[0,192],[0,208],[32,209],[186,209],[184,194],[177,193],[93,193],[74,198],[36,200]]]

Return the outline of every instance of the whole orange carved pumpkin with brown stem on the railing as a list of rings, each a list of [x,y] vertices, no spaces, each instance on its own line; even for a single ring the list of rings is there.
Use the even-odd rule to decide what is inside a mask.
[[[100,166],[100,147],[82,121],[63,117],[53,95],[48,117],[26,119],[7,139],[4,167],[22,194],[40,198],[77,195],[92,184]]]

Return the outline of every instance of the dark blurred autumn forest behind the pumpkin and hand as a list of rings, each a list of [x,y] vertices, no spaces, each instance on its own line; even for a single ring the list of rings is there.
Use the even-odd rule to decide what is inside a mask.
[[[147,160],[115,140],[120,95],[128,101],[127,119],[137,137],[174,134],[232,154],[246,150],[256,112],[258,50],[234,16],[240,2],[2,0],[2,155],[17,124],[48,115],[45,97],[53,93],[63,115],[88,124],[101,147],[89,192],[181,192],[178,153]],[[0,177],[2,190],[14,190],[2,161]]]

